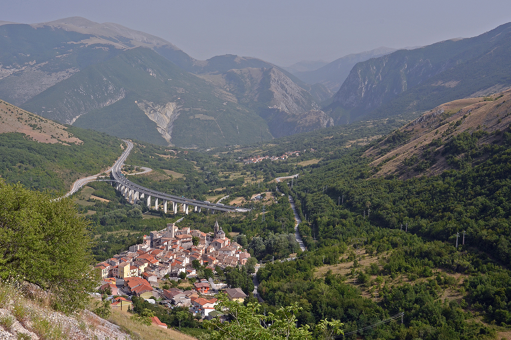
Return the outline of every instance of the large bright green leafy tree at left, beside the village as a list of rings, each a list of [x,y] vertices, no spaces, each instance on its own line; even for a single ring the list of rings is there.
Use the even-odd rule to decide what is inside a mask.
[[[0,179],[0,277],[24,277],[50,290],[53,307],[84,308],[99,283],[88,223],[71,198]]]

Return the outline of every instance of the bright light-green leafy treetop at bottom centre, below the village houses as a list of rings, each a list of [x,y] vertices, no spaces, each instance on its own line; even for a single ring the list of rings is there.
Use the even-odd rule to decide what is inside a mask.
[[[312,338],[309,325],[297,327],[296,313],[302,308],[295,303],[292,306],[280,307],[275,313],[261,314],[259,303],[249,302],[247,306],[237,301],[229,301],[221,294],[217,310],[228,310],[230,322],[221,323],[220,319],[204,321],[203,324],[211,329],[209,340],[308,340]],[[263,327],[264,322],[267,327]],[[333,320],[332,322],[337,323]]]

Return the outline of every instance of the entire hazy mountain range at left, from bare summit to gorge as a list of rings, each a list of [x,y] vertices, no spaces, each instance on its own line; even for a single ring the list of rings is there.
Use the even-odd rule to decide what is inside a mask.
[[[202,147],[269,140],[324,125],[305,119],[306,112],[333,96],[258,58],[197,60],[164,39],[108,22],[71,17],[5,24],[0,33],[0,98],[118,137]],[[248,69],[260,70],[253,90],[267,95],[245,100],[226,81]]]

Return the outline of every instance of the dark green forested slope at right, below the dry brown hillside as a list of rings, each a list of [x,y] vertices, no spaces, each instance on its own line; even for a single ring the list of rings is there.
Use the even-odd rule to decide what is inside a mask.
[[[292,191],[310,223],[299,229],[317,252],[260,270],[263,299],[302,301],[309,312],[301,322],[335,318],[345,330],[405,312],[405,328],[364,333],[374,338],[493,336],[477,315],[505,330],[511,322],[510,136],[506,129],[502,145],[485,149],[486,161],[437,176],[371,178],[369,159],[360,157],[365,148],[300,176]],[[332,270],[314,275],[323,262]]]

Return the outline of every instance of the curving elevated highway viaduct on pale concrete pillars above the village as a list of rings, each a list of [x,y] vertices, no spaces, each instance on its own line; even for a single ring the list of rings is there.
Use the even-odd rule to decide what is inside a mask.
[[[147,202],[147,206],[149,208],[154,207],[156,210],[159,208],[159,203],[163,203],[163,210],[165,213],[171,209],[174,214],[177,214],[179,210],[179,206],[181,206],[181,211],[185,214],[188,214],[190,208],[193,208],[195,212],[201,212],[202,209],[206,209],[208,212],[247,212],[249,209],[238,208],[233,206],[226,206],[222,203],[210,203],[207,201],[200,201],[197,199],[186,198],[184,196],[174,196],[164,192],[151,190],[140,186],[136,183],[131,182],[126,178],[121,172],[121,169],[128,157],[131,149],[133,148],[133,143],[130,141],[124,140],[128,147],[123,152],[121,157],[113,164],[111,168],[112,174],[112,182],[115,185],[115,188],[120,191],[126,200],[130,203],[135,203],[138,200],[144,200]],[[154,203],[153,203],[154,202]]]

